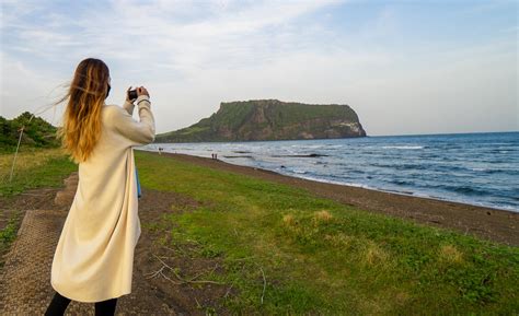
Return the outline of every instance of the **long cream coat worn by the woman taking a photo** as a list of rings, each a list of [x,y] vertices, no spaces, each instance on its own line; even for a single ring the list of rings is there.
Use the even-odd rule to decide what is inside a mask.
[[[134,149],[154,140],[151,104],[104,105],[102,134],[79,164],[79,183],[54,255],[50,283],[78,302],[100,302],[131,292],[134,249],[140,236]]]

